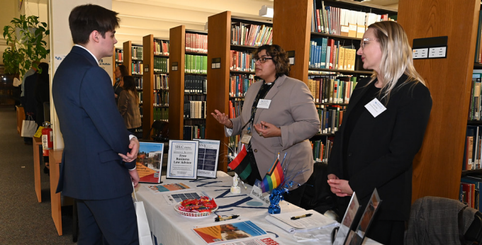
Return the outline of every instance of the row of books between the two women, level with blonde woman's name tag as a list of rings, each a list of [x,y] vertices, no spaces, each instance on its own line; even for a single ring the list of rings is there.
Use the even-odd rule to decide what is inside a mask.
[[[320,130],[322,134],[334,134],[340,128],[343,120],[344,106],[318,106]]]

